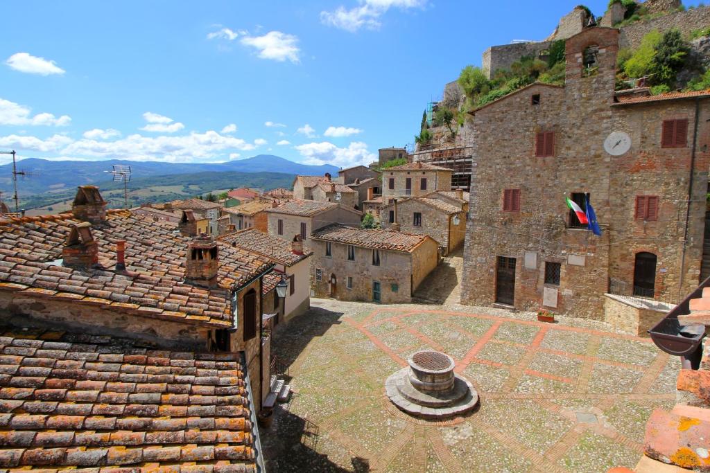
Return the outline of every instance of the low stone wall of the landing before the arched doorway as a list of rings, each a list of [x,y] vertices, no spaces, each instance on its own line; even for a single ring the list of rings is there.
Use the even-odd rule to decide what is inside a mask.
[[[631,299],[606,294],[604,321],[629,335],[648,337],[648,330],[656,325],[673,306],[649,308],[635,304]]]

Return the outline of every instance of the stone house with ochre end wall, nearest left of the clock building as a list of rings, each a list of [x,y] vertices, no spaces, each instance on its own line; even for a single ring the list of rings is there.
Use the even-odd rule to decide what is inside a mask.
[[[439,244],[441,254],[448,255],[464,243],[468,211],[468,192],[435,191],[384,206],[381,226],[429,235]]]

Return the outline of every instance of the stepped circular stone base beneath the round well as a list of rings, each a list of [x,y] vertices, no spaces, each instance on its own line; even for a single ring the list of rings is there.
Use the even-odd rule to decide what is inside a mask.
[[[385,382],[390,401],[406,413],[428,419],[459,416],[471,411],[479,402],[479,394],[464,377],[454,373],[454,386],[449,391],[418,391],[410,382],[410,367],[400,369]]]

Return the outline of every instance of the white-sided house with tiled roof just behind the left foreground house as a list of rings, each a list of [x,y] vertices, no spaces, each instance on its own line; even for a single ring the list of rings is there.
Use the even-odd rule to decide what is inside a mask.
[[[297,238],[296,238],[297,237]],[[264,311],[274,312],[277,316],[273,324],[288,322],[308,310],[310,307],[310,260],[313,252],[303,247],[300,235],[294,235],[290,242],[273,235],[267,235],[256,228],[241,230],[220,237],[242,250],[256,253],[271,260],[276,266],[273,274],[275,284],[283,275],[288,282],[288,290],[283,300],[275,297],[264,300]],[[269,304],[271,302],[271,304]]]

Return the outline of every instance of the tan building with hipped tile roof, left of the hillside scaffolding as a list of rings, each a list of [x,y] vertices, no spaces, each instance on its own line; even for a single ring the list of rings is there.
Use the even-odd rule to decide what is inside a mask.
[[[389,204],[395,198],[422,196],[431,191],[450,191],[452,174],[452,169],[420,161],[384,169],[383,203]]]

